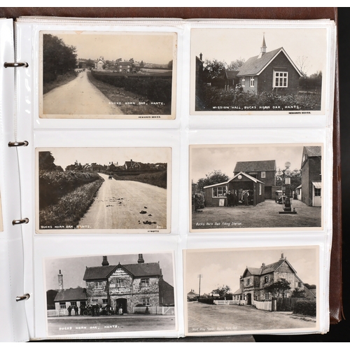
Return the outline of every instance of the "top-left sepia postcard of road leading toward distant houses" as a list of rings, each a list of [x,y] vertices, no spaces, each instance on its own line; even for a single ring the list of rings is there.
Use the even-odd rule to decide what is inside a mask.
[[[41,31],[40,39],[40,118],[175,118],[176,33]]]

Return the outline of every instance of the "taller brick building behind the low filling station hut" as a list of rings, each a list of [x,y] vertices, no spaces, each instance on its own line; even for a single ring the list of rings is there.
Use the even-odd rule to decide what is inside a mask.
[[[276,186],[276,160],[237,162],[233,174],[244,172],[265,184],[265,200],[274,200]]]

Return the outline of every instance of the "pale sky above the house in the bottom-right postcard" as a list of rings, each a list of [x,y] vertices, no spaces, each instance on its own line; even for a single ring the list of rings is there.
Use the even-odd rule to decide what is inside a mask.
[[[297,272],[302,282],[318,286],[318,248],[251,248],[251,250],[221,249],[187,251],[186,255],[186,293],[194,289],[198,293],[199,278],[202,274],[200,293],[211,293],[223,285],[228,285],[231,292],[239,289],[239,277],[246,267],[261,267],[277,262],[283,253],[290,265]]]

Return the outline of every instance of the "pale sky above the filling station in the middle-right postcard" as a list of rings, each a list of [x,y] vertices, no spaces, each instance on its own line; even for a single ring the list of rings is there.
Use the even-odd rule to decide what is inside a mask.
[[[300,169],[302,148],[303,145],[196,145],[190,148],[190,180],[196,183],[214,170],[221,170],[232,178],[237,162],[254,160],[276,160],[276,167],[281,169],[290,162],[291,170]]]

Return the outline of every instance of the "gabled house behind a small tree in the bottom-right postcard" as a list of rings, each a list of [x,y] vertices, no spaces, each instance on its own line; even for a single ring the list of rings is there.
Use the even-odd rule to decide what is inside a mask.
[[[271,300],[271,293],[266,293],[264,288],[281,279],[286,279],[290,283],[290,290],[283,297],[290,297],[293,290],[298,288],[304,292],[308,299],[314,300],[316,298],[316,295],[304,286],[302,280],[297,276],[297,272],[282,253],[281,258],[272,264],[265,265],[262,262],[260,267],[246,267],[239,278],[241,299],[246,300],[247,305],[251,305],[253,300]]]

